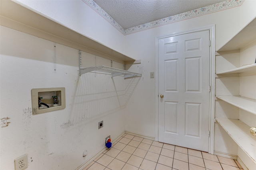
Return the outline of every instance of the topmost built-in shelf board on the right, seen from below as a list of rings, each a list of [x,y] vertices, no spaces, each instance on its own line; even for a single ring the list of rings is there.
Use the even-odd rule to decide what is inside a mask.
[[[256,39],[256,18],[236,34],[228,43],[222,46],[217,52],[233,51],[240,49]]]

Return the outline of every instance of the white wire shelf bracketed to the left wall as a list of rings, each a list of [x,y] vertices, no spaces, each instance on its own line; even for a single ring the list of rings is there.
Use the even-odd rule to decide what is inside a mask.
[[[108,66],[94,66],[94,67],[80,68],[80,75],[85,74],[87,72],[111,74],[111,77],[124,76],[125,79],[141,77],[141,74],[139,74],[139,73],[121,70],[118,68],[113,68],[113,67],[108,67]]]

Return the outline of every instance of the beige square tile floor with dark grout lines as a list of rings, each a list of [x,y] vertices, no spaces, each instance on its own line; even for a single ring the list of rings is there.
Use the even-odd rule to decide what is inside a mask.
[[[83,170],[242,170],[233,159],[124,134]]]

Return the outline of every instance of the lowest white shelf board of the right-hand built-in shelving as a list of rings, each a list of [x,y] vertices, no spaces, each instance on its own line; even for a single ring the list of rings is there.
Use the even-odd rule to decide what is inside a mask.
[[[240,120],[215,117],[236,144],[256,163],[256,137],[250,127]]]

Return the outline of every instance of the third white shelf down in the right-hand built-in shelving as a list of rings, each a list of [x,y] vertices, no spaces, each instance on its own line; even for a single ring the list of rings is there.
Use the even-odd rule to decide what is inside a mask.
[[[256,115],[256,100],[254,99],[241,96],[216,96],[216,98]]]

